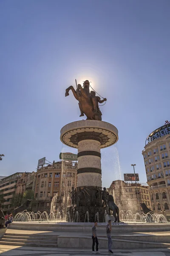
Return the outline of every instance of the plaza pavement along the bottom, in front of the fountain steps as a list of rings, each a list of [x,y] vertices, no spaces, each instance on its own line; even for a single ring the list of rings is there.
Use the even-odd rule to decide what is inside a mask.
[[[107,250],[101,249],[100,256],[111,255]],[[20,247],[11,245],[0,245],[0,255],[2,256],[91,256],[89,249],[75,248],[51,248],[51,247]],[[170,256],[170,248],[156,249],[115,249],[114,256]]]

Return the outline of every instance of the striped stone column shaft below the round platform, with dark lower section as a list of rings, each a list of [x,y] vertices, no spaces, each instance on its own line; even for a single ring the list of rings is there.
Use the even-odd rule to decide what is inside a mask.
[[[77,157],[77,206],[101,205],[102,170],[100,142],[93,139],[80,140]]]

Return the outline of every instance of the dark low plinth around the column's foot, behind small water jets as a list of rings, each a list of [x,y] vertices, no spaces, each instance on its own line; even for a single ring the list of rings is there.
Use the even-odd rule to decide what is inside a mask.
[[[79,220],[80,222],[94,222],[95,220],[98,221],[96,213],[99,216],[99,222],[104,222],[105,217],[105,207],[99,206],[75,206],[75,207],[68,207],[68,212],[70,213],[71,221],[75,220],[76,212],[79,212]],[[88,212],[88,215],[86,214]],[[88,219],[89,218],[89,219]],[[76,220],[77,221],[77,218]]]

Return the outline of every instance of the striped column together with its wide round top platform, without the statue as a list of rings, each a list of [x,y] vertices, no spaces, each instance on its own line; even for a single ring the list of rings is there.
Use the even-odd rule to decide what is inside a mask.
[[[84,207],[81,208],[81,212],[89,209],[92,214],[95,212],[95,208],[98,212],[99,207],[102,207],[100,149],[118,141],[116,127],[96,120],[72,122],[61,129],[60,140],[65,145],[78,148],[77,207]],[[82,220],[84,221],[85,216],[83,215]]]

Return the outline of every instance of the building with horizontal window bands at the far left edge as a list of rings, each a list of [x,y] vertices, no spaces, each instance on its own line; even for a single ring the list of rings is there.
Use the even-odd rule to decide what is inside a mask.
[[[14,196],[17,189],[17,182],[22,174],[22,172],[17,172],[0,180],[0,195],[3,195],[4,200],[2,209],[5,214],[14,209]]]

